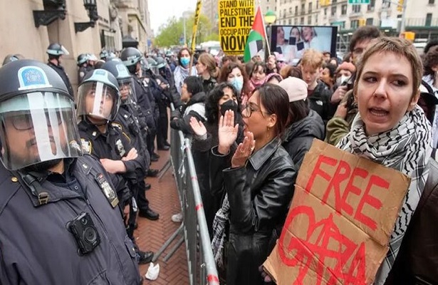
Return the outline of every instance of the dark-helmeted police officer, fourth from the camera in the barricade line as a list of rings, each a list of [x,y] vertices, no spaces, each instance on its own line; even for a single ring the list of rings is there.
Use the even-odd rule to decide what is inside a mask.
[[[144,120],[147,124],[147,150],[150,153],[150,160],[157,161],[159,155],[153,151],[155,133],[157,131],[157,118],[155,117],[155,100],[147,83],[140,78],[142,77],[142,65],[147,65],[142,56],[142,53],[137,48],[124,48],[120,54],[120,59],[127,67],[132,75],[133,90],[137,97],[137,107],[139,120]],[[143,62],[143,63],[142,63]],[[157,176],[158,170],[147,171],[148,176]]]

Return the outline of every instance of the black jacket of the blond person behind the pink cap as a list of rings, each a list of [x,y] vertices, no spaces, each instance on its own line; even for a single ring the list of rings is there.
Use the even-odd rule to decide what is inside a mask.
[[[324,125],[333,117],[335,107],[330,103],[332,91],[323,81],[318,81],[318,85],[313,90],[313,93],[308,96],[309,105],[312,110],[323,119]]]

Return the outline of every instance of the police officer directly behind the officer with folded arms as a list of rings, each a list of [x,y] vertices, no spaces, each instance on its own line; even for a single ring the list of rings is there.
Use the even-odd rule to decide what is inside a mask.
[[[112,73],[117,78],[119,84],[119,90],[122,98],[122,105],[118,115],[115,118],[113,125],[121,126],[124,133],[130,137],[132,145],[137,150],[140,150],[145,157],[145,165],[150,165],[150,155],[147,152],[147,145],[145,140],[147,139],[147,125],[138,119],[138,113],[135,105],[132,102],[132,76],[127,70],[126,66],[122,62],[108,61],[102,66],[103,69]],[[145,190],[150,189],[150,184],[145,183],[145,173],[143,172],[139,177],[139,182],[135,185],[137,189],[136,199],[139,208],[140,217],[146,217],[147,219],[156,220],[160,216],[156,212],[152,211],[149,207],[149,201],[145,196]]]

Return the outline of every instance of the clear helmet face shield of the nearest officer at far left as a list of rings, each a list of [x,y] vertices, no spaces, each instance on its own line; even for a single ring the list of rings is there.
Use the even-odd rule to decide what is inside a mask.
[[[17,95],[0,105],[1,162],[19,170],[82,155],[73,100],[52,92]]]

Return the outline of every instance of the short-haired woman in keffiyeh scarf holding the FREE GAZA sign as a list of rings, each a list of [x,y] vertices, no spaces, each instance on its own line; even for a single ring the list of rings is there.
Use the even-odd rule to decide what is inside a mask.
[[[438,235],[437,229],[429,228],[437,227],[438,212],[432,211],[427,215],[428,223],[421,224],[427,225],[427,233],[420,226],[419,214],[414,215],[422,204],[420,198],[424,199],[422,193],[427,192],[424,185],[429,169],[436,170],[428,165],[431,127],[417,106],[421,76],[422,62],[411,43],[400,38],[379,38],[358,64],[354,94],[359,114],[350,133],[338,143],[343,150],[411,177],[391,235],[390,251],[377,272],[375,284],[438,282]],[[434,197],[437,199],[437,195]],[[421,249],[427,250],[420,258],[417,250]],[[417,283],[416,278],[429,283]]]

